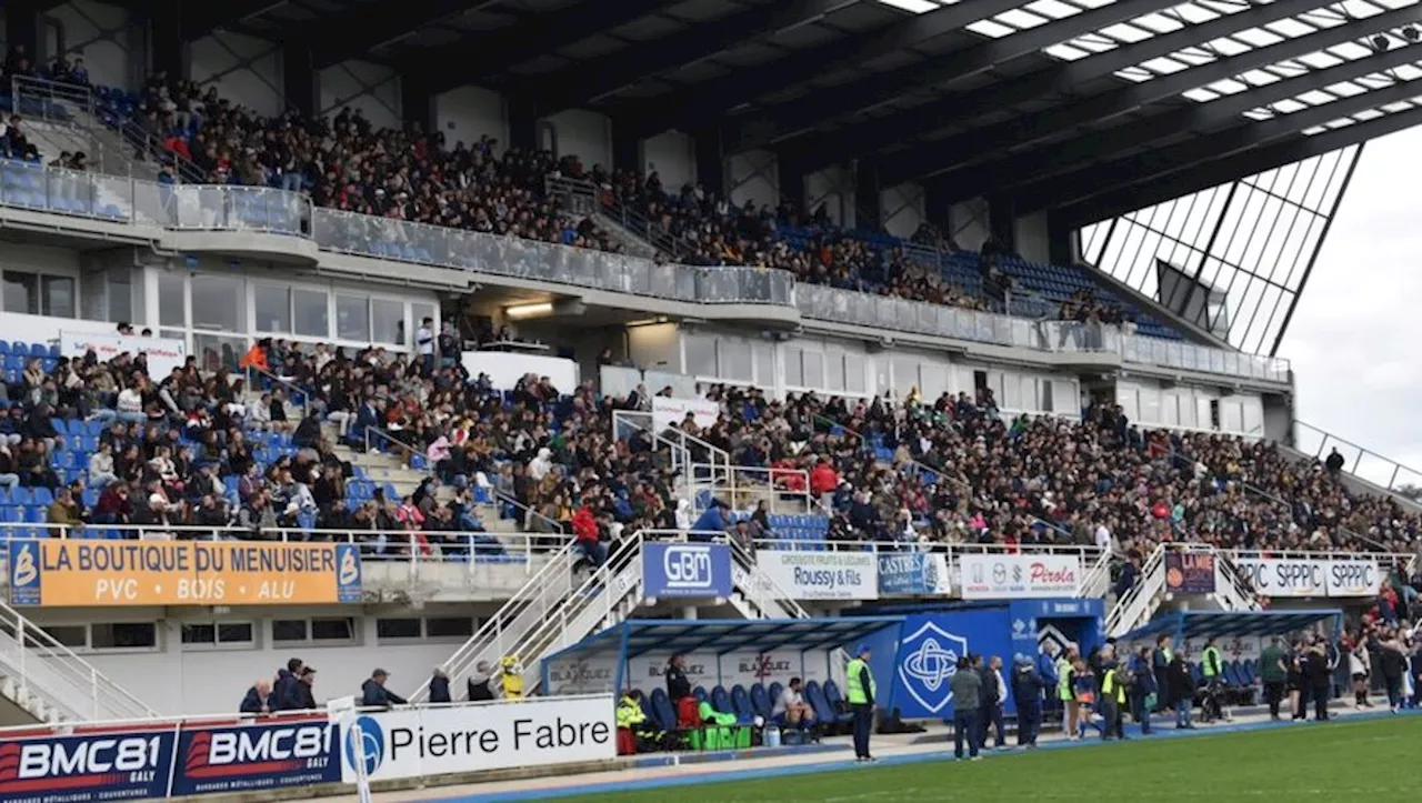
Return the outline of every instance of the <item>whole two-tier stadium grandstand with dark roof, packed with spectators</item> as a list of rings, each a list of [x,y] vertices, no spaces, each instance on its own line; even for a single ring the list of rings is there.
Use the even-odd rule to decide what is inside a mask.
[[[1304,448],[1281,347],[1419,44],[1416,0],[6,3],[0,753],[85,800],[813,767],[954,721],[970,655],[1024,746],[1128,672],[1138,725],[1413,708],[1411,475]],[[479,762],[400,752],[462,704]],[[115,728],[152,766],[65,759]]]

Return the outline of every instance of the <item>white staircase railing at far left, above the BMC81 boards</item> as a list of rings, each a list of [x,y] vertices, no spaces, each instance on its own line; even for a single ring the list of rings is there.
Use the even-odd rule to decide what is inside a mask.
[[[0,665],[11,675],[18,695],[37,695],[68,719],[158,715],[4,601],[0,601]],[[23,701],[16,702],[23,706]]]

